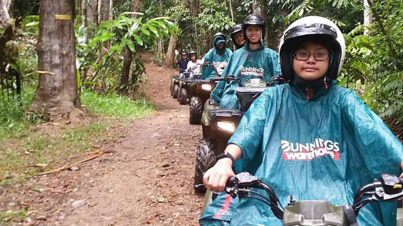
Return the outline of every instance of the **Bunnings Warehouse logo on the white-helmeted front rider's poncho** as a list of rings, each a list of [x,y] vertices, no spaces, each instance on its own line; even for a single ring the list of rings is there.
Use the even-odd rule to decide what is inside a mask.
[[[316,138],[313,143],[291,143],[281,141],[284,160],[310,161],[323,156],[330,156],[333,160],[340,160],[339,142]]]

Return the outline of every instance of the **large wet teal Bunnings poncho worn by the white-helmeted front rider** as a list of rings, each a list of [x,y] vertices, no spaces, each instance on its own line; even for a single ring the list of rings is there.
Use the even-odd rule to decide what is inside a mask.
[[[228,143],[242,150],[243,170],[273,187],[283,205],[296,200],[353,204],[357,189],[383,173],[399,175],[403,145],[354,91],[335,81],[314,97],[296,85],[267,88]],[[367,204],[360,225],[395,225],[396,203]],[[282,225],[266,204],[225,193],[201,225]]]

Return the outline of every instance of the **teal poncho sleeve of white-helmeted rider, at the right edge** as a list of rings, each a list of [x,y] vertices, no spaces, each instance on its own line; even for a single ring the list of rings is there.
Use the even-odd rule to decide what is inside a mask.
[[[403,145],[396,136],[353,91],[345,95],[342,107],[342,120],[373,178],[383,173],[399,175]]]

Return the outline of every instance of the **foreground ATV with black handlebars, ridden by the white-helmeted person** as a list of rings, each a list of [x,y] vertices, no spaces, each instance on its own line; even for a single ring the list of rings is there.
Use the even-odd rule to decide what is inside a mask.
[[[204,187],[203,184],[198,186]],[[261,193],[263,191],[267,195]],[[233,198],[238,196],[239,198],[255,198],[262,201],[267,204],[268,209],[273,211],[277,218],[283,221],[284,226],[358,226],[357,216],[360,213],[360,209],[367,203],[373,201],[398,201],[396,225],[403,225],[403,209],[401,208],[403,178],[398,178],[395,175],[382,174],[379,179],[375,179],[372,183],[357,190],[352,205],[346,204],[343,206],[333,205],[325,200],[296,201],[292,194],[289,196],[288,205],[283,206],[272,187],[248,172],[242,172],[235,175],[235,177],[230,177],[226,183],[225,192]],[[209,190],[208,193],[212,192]],[[206,197],[208,197],[208,193]],[[211,198],[205,198],[202,212],[210,204],[208,202],[211,202]]]

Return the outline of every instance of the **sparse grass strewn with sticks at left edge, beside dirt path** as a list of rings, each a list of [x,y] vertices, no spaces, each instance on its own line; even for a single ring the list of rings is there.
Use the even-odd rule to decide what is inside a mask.
[[[38,172],[54,168],[67,157],[90,151],[91,147],[102,141],[113,141],[117,138],[109,132],[106,123],[95,122],[86,126],[65,128],[60,131],[30,131],[30,135],[15,140],[14,147],[2,145],[0,148],[0,181],[1,185],[24,181]],[[18,168],[30,165],[41,167]],[[10,168],[18,168],[12,169]]]

